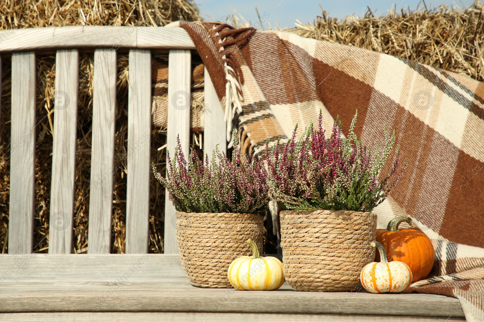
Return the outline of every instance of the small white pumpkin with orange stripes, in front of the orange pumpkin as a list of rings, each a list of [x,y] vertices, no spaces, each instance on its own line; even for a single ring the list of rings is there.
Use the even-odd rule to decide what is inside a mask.
[[[383,246],[372,242],[380,252],[382,262],[372,262],[363,267],[360,280],[364,289],[371,293],[400,293],[405,291],[412,281],[412,271],[403,262],[388,262]]]

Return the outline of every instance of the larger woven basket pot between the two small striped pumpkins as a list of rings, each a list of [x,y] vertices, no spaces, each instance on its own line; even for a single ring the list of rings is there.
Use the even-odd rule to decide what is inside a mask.
[[[297,291],[361,289],[360,272],[375,258],[377,215],[344,210],[281,211],[286,281]]]

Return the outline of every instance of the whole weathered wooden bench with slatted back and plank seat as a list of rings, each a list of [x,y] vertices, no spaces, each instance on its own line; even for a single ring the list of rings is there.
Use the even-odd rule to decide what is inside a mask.
[[[463,321],[459,301],[440,295],[200,289],[183,273],[174,207],[166,199],[165,254],[148,254],[151,52],[169,52],[168,97],[190,93],[185,30],[60,27],[0,31],[12,55],[8,254],[0,256],[0,321]],[[94,52],[88,254],[70,254],[74,209],[79,50]],[[48,254],[32,254],[35,53],[56,51],[56,106]],[[118,51],[129,51],[126,254],[109,254]],[[204,146],[225,149],[224,114],[205,79]],[[0,82],[1,84],[1,82]],[[187,154],[190,109],[168,100],[167,148],[179,134]],[[148,144],[140,144],[148,141]],[[129,151],[136,150],[136,153]],[[101,178],[101,179],[99,179]],[[99,182],[100,181],[100,182]]]

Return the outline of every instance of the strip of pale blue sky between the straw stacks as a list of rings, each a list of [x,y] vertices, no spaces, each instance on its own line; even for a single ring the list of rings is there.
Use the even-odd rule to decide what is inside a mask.
[[[399,0],[401,1],[401,0]],[[251,21],[254,26],[258,22],[255,6],[259,11],[261,17],[267,17],[267,22],[264,27],[268,27],[268,23],[275,27],[275,22],[279,23],[281,27],[294,27],[296,19],[301,22],[312,22],[317,15],[321,14],[319,4],[324,10],[330,11],[332,17],[344,19],[347,15],[362,16],[366,12],[366,6],[369,6],[375,15],[387,14],[388,10],[393,4],[397,5],[397,10],[401,8],[407,9],[408,6],[415,10],[417,8],[418,0],[403,0],[401,2],[382,1],[382,0],[195,0],[206,20],[225,21],[228,14],[231,14],[230,8],[236,9],[247,21]],[[439,6],[440,4],[447,4],[451,6],[469,7],[474,0],[427,0],[425,3],[428,8]],[[423,6],[421,2],[420,6]],[[378,9],[378,10],[377,10]],[[258,27],[258,26],[254,26]]]

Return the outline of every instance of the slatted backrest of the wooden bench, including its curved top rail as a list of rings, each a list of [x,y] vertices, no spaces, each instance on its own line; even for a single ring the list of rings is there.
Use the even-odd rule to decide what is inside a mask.
[[[167,150],[174,151],[180,135],[188,155],[190,107],[179,104],[190,101],[183,95],[190,93],[195,46],[184,29],[76,26],[0,31],[0,54],[12,53],[11,143],[22,142],[10,163],[9,254],[32,252],[35,52],[45,50],[56,50],[48,252],[67,254],[73,248],[79,49],[94,51],[88,253],[110,250],[118,50],[129,50],[126,253],[148,252],[152,49],[169,50]],[[225,150],[224,113],[206,70],[205,106],[204,149],[210,154],[220,143]],[[164,250],[177,253],[175,209],[167,194],[165,204]]]

